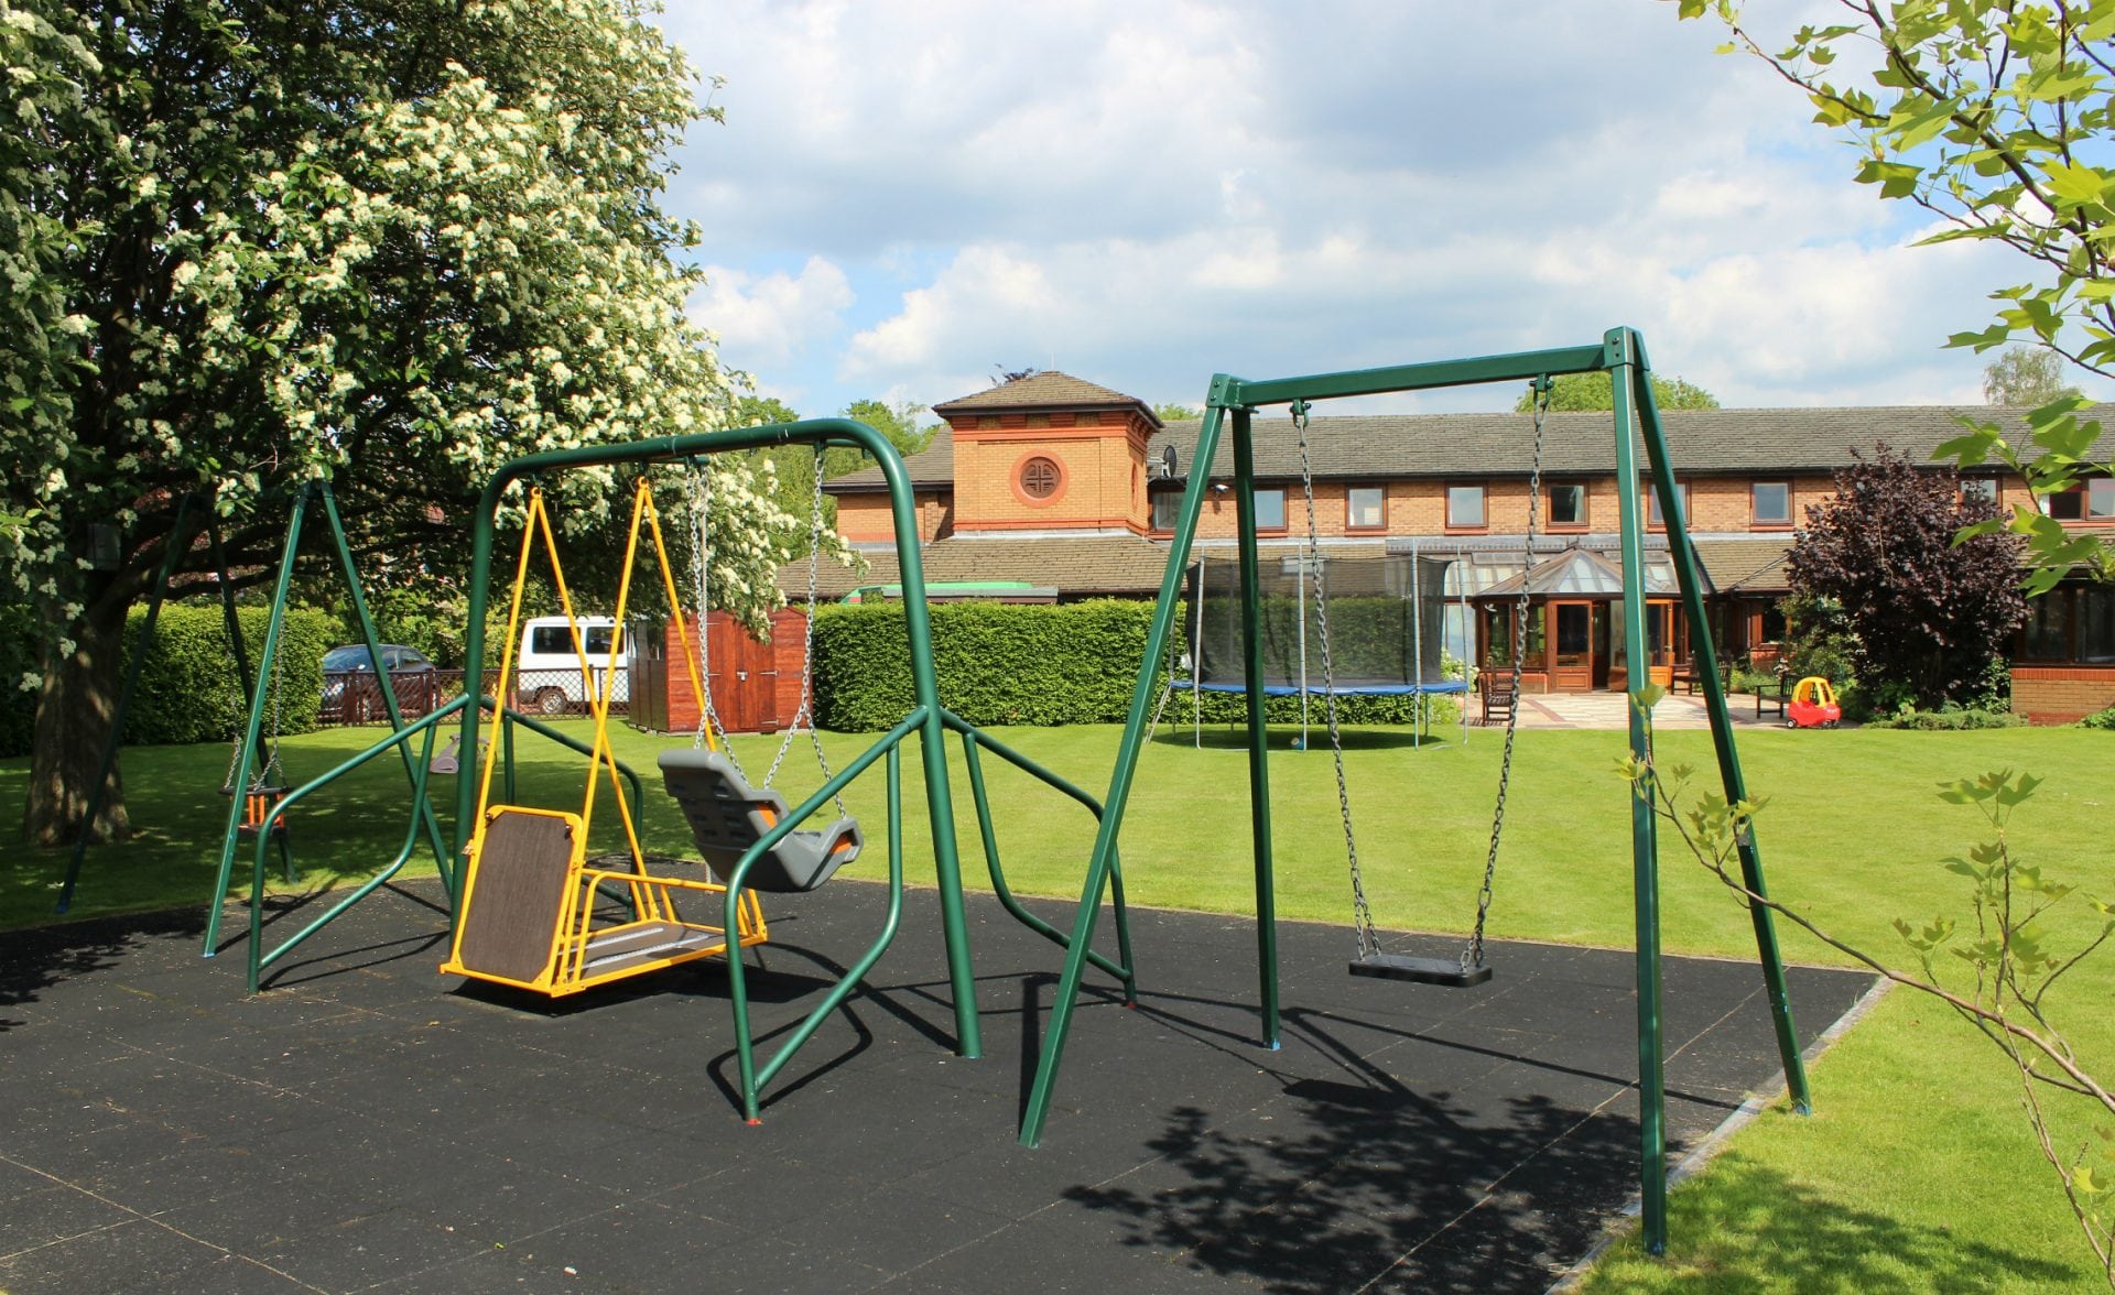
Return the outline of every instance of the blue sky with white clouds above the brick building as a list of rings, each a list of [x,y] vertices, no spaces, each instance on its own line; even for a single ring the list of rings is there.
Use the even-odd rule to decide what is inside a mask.
[[[1218,370],[1614,324],[1728,406],[1980,402],[1988,358],[1942,343],[2022,275],[1910,248],[1929,218],[1662,0],[668,0],[664,25],[725,78],[668,193],[704,231],[694,317],[804,415],[1000,366],[1197,404]]]

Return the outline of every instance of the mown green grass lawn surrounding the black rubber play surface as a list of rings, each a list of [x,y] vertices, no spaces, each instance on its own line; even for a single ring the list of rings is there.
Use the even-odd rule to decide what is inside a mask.
[[[577,726],[586,732],[586,726]],[[656,789],[654,751],[664,743],[618,728],[618,751],[647,777],[645,840],[685,853],[687,832]],[[998,730],[1055,772],[1100,796],[1117,728]],[[286,764],[313,777],[343,760],[372,730],[334,730],[286,745]],[[1191,749],[1189,734],[1163,734],[1138,770],[1123,836],[1134,904],[1246,912],[1250,908],[1248,774],[1237,747]],[[772,743],[738,738],[744,762],[770,762]],[[1942,781],[1986,768],[2026,768],[2047,781],[2020,813],[2013,844],[2052,874],[2102,897],[2115,895],[2107,842],[2115,798],[2115,741],[2085,730],[1783,732],[1743,730],[1741,751],[1755,794],[1770,804],[1760,821],[1772,893],[1825,929],[1887,959],[1906,950],[1895,916],[1963,912],[1961,878],[1946,855],[1978,840],[1980,819],[1935,798]],[[685,738],[687,745],[687,738]],[[865,738],[827,734],[833,762]],[[1466,747],[1411,749],[1400,734],[1351,734],[1351,796],[1366,893],[1383,927],[1464,931],[1474,916],[1497,777],[1500,736],[1476,732]],[[569,806],[580,800],[580,758],[525,738],[522,800]],[[1631,942],[1631,853],[1626,785],[1614,764],[1616,732],[1523,732],[1514,760],[1506,851],[1500,861],[1495,937],[1626,946]],[[960,747],[958,832],[964,874],[983,884]],[[1660,762],[1709,768],[1709,734],[1660,736]],[[133,749],[125,758],[127,798],[140,836],[89,853],[74,914],[195,904],[209,895],[226,800],[216,794],[224,747]],[[1022,893],[1077,895],[1091,821],[1072,802],[1013,770],[986,762],[998,806],[1007,876]],[[905,762],[912,880],[926,859],[922,781]],[[1326,751],[1282,751],[1271,760],[1280,912],[1299,920],[1349,920],[1343,840]],[[25,762],[0,762],[0,798],[21,802]],[[780,774],[791,800],[819,777],[802,743]],[[436,779],[436,804],[453,817],[453,781]],[[882,779],[871,770],[850,796],[852,810],[880,834]],[[343,789],[305,804],[294,851],[305,889],[343,884],[387,863],[404,836],[404,772],[370,764]],[[607,791],[596,810],[596,846],[615,846]],[[8,855],[0,872],[0,925],[53,920],[61,853]],[[421,859],[419,870],[431,872]],[[873,851],[852,876],[880,876]],[[931,880],[931,872],[922,874]],[[1694,861],[1667,851],[1665,937],[1669,952],[1751,956],[1745,910]],[[2083,908],[2068,927],[2083,931]],[[1840,961],[1785,931],[1787,954]],[[1140,950],[1151,980],[1153,950]],[[1229,986],[1248,992],[1250,986]],[[2115,1071],[2115,952],[2088,963],[2052,1007],[2079,1052]],[[1878,1011],[1813,1071],[1819,1111],[1810,1119],[1770,1113],[1698,1181],[1673,1198],[1669,1259],[1618,1246],[1590,1278],[1593,1289],[1705,1291],[2047,1291],[2096,1289],[2075,1225],[2018,1113],[2016,1079],[2001,1058],[1931,1003],[1891,995]]]

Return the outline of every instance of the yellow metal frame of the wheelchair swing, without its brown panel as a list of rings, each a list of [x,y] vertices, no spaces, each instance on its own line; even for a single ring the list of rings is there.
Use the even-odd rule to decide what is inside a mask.
[[[639,478],[639,487],[632,491],[632,525],[630,537],[624,546],[624,567],[618,578],[618,607],[615,622],[624,624],[624,612],[632,592],[632,569],[639,559],[639,533],[641,527],[654,535],[654,557],[660,563],[662,590],[668,595],[668,605],[681,609],[681,597],[677,595],[675,567],[668,563],[668,544],[662,535],[660,512],[654,508],[654,487],[647,478]],[[550,510],[544,506],[544,491],[529,491],[529,516],[522,525],[522,554],[514,567],[514,595],[508,605],[508,631],[501,648],[499,679],[505,681],[514,675],[514,650],[520,637],[520,616],[522,616],[522,590],[529,582],[529,559],[541,537],[544,552],[550,557],[552,584],[558,590],[558,607],[565,612],[565,624],[573,637],[573,652],[582,660],[582,686],[588,694],[588,713],[594,719],[594,743],[588,753],[588,787],[582,798],[580,813],[550,810],[537,806],[520,804],[493,804],[493,770],[499,758],[499,743],[489,743],[484,749],[482,770],[478,774],[478,829],[470,838],[467,863],[463,874],[463,910],[455,923],[455,937],[448,946],[448,961],[440,969],[448,975],[467,975],[474,980],[486,980],[493,984],[510,984],[525,990],[535,990],[550,997],[577,995],[596,984],[609,984],[613,980],[626,980],[632,975],[643,975],[647,971],[660,971],[662,967],[675,967],[677,963],[692,963],[698,959],[725,956],[728,942],[725,929],[704,923],[685,920],[675,906],[677,891],[698,891],[702,895],[725,895],[728,889],[711,878],[681,878],[681,876],[656,876],[647,870],[645,853],[639,849],[639,834],[632,825],[630,806],[624,800],[624,781],[618,774],[618,762],[609,747],[609,690],[615,679],[618,669],[618,643],[622,633],[609,635],[609,652],[603,660],[601,686],[592,677],[594,664],[588,658],[586,639],[580,633],[580,616],[573,612],[573,595],[565,584],[565,569],[558,563],[558,535],[550,521]],[[702,612],[700,612],[702,616]],[[692,690],[704,696],[704,679],[700,673],[698,652],[689,641],[689,626],[683,622],[681,612],[677,612],[677,637],[683,645],[683,669],[689,673]],[[717,751],[721,747],[719,734],[706,724],[704,728],[706,745]],[[609,787],[618,798],[618,819],[624,823],[624,842],[630,855],[630,870],[611,868],[588,868],[588,829],[594,825],[594,802],[601,794],[601,774],[607,768]],[[573,836],[573,853],[567,861],[565,874],[565,895],[558,901],[558,916],[552,923],[550,933],[550,956],[544,963],[544,971],[535,980],[514,980],[508,975],[493,975],[489,971],[476,971],[465,967],[461,961],[463,927],[470,920],[472,906],[478,893],[478,863],[484,857],[486,827],[501,813],[522,813],[539,815],[552,819],[565,819]],[[594,925],[594,893],[605,882],[624,884],[630,891],[632,920],[596,927]],[[713,906],[719,912],[719,904]],[[660,927],[681,927],[698,935],[719,935],[719,942],[698,944],[694,948],[677,950],[664,959],[649,959],[641,963],[628,963],[615,971],[590,973],[588,969],[588,948],[594,940],[622,937],[626,931],[660,929]],[[747,948],[751,944],[764,944],[770,940],[770,929],[764,923],[764,906],[757,901],[755,891],[744,893],[738,920],[736,920],[736,948]]]

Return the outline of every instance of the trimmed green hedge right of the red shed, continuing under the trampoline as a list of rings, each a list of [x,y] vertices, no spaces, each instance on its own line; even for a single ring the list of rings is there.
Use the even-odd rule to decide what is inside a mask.
[[[1121,724],[1151,626],[1153,603],[1136,601],[935,603],[933,664],[941,705],[971,724]],[[876,732],[909,713],[901,603],[816,609],[814,707],[816,724],[838,732]],[[1187,696],[1170,698],[1163,724],[1176,713],[1189,717]],[[1203,694],[1201,713],[1212,724],[1239,722],[1244,698]],[[1273,724],[1296,724],[1301,703],[1275,696],[1267,715]],[[1432,722],[1451,724],[1457,715],[1451,698],[1434,698]],[[1409,724],[1415,698],[1347,696],[1337,717],[1343,724]],[[1320,698],[1309,703],[1309,722],[1322,724]]]

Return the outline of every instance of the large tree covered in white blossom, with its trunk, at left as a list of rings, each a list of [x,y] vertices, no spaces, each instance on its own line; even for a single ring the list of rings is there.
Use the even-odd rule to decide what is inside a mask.
[[[80,817],[125,612],[167,546],[205,561],[178,495],[258,569],[286,487],[330,474],[357,552],[448,573],[499,461],[728,408],[670,258],[698,233],[660,209],[715,112],[639,0],[0,0],[0,573],[49,626],[32,842],[125,829],[118,787]],[[787,518],[715,472],[715,584],[761,603]],[[596,525],[607,487],[563,482],[560,516]]]

